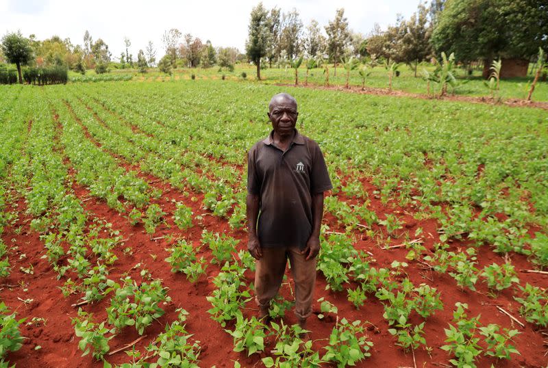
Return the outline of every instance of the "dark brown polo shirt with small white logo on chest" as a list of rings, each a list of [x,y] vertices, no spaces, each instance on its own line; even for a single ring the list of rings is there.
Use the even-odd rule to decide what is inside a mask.
[[[297,129],[286,152],[272,135],[247,157],[247,191],[260,196],[259,241],[264,247],[304,248],[312,234],[312,194],[332,189],[327,166],[318,144]]]

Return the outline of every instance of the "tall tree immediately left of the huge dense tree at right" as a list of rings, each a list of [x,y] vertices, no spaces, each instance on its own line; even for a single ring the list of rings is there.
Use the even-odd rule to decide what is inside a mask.
[[[428,24],[428,9],[425,5],[419,3],[416,13],[404,23],[404,27],[406,31],[401,38],[399,59],[413,68],[416,77],[417,64],[432,53],[430,48],[432,26]]]

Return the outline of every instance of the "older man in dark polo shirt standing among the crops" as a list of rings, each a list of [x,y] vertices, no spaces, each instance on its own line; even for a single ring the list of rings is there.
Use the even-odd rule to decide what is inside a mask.
[[[268,318],[289,259],[295,315],[305,329],[312,314],[323,192],[332,185],[320,147],[295,129],[295,98],[276,94],[268,116],[273,131],[251,148],[247,160],[247,248],[256,259],[256,302],[259,317]]]

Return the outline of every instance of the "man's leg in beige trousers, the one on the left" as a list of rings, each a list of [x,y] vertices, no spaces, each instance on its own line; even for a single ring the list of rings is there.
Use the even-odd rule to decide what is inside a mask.
[[[259,317],[269,314],[270,301],[278,293],[286,272],[286,248],[261,248],[262,257],[256,261],[255,300],[259,306]]]

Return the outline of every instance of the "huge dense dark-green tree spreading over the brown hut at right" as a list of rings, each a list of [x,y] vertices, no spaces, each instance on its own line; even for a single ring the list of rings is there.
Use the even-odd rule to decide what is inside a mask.
[[[545,0],[448,0],[432,45],[436,53],[455,53],[461,62],[529,60],[539,47],[548,48],[548,5]]]

